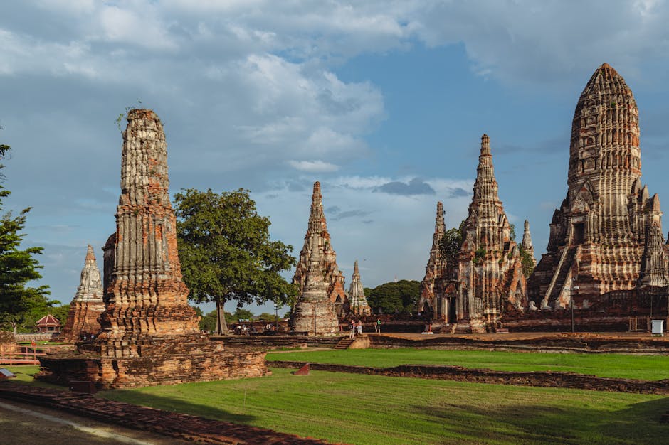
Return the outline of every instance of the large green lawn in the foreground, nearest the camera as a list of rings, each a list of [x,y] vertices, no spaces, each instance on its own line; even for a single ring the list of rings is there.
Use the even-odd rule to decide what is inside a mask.
[[[274,368],[100,397],[353,444],[662,442],[669,398]]]

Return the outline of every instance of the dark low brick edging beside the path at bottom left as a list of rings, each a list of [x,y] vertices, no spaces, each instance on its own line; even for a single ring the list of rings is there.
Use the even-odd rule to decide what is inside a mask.
[[[100,422],[152,431],[200,444],[327,444],[318,439],[303,438],[271,429],[220,422],[189,414],[113,402],[78,392],[12,382],[0,383],[0,399],[58,409]]]

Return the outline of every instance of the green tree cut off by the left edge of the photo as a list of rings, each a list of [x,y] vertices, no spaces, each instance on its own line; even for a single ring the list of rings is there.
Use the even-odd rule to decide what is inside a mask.
[[[0,159],[9,152],[9,146],[0,144]],[[0,165],[0,169],[4,166]],[[11,192],[0,186],[0,208],[2,198]],[[41,265],[34,257],[41,254],[42,247],[21,249],[26,235],[21,231],[26,226],[26,217],[31,208],[21,210],[18,216],[11,211],[0,217],[0,326],[16,330],[26,323],[26,315],[37,308],[47,306],[48,286],[32,287],[28,282],[41,279]]]

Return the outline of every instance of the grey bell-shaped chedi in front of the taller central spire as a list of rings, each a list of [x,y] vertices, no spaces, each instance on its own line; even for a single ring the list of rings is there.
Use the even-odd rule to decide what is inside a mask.
[[[293,309],[290,326],[296,332],[306,332],[310,336],[332,336],[339,332],[339,318],[334,304],[327,294],[324,279],[323,252],[320,248],[319,220],[310,220],[309,266],[305,274],[305,284],[300,298]]]

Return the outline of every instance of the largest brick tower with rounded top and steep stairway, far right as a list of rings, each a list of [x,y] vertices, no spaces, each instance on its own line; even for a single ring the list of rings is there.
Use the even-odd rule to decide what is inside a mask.
[[[604,63],[581,93],[571,125],[567,197],[550,224],[547,253],[530,277],[540,309],[631,313],[638,292],[666,286],[660,200],[641,185],[638,109]],[[638,308],[637,308],[638,309]]]

